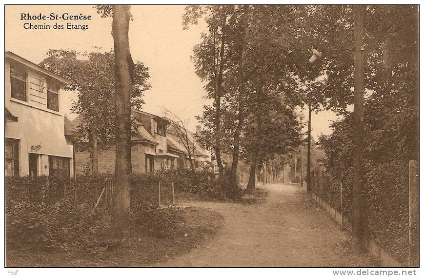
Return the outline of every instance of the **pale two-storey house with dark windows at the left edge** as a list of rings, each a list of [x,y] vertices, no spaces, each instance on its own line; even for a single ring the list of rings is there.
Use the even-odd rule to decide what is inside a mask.
[[[74,174],[73,142],[80,136],[64,116],[70,82],[5,52],[5,175]]]

